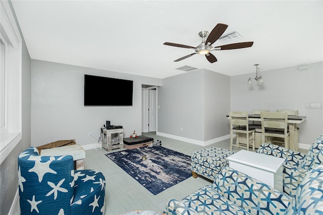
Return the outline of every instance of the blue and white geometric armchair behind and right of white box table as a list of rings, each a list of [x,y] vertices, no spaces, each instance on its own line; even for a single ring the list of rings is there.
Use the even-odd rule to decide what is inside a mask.
[[[316,138],[307,154],[270,143],[261,144],[257,152],[286,160],[283,164],[283,189],[294,197],[307,172],[323,164],[323,135]]]

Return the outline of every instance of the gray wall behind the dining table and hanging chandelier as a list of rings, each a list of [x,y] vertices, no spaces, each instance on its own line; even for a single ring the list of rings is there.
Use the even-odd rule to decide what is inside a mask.
[[[264,68],[263,68],[264,69]],[[322,105],[323,63],[308,65],[308,70],[298,67],[260,72],[263,85],[247,85],[255,73],[231,77],[231,110],[248,111],[282,109],[298,110],[306,120],[298,127],[299,142],[311,144],[323,133],[323,109],[310,109],[310,103]],[[229,128],[228,128],[229,132]]]

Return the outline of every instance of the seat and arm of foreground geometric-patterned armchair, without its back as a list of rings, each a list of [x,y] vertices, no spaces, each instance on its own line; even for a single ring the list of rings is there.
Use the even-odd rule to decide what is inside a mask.
[[[293,198],[243,173],[224,167],[213,184],[181,201],[172,199],[167,214],[285,214]]]

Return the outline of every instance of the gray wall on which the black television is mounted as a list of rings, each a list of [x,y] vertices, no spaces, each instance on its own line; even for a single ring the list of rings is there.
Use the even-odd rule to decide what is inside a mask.
[[[84,74],[133,80],[133,105],[84,106]],[[31,145],[65,139],[93,144],[106,120],[122,125],[125,137],[134,130],[141,134],[141,85],[161,83],[157,78],[32,60]],[[122,89],[107,89],[97,96],[109,99],[118,90]]]

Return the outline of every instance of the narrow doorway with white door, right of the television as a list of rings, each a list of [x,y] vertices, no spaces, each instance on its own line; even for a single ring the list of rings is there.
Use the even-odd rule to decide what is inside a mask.
[[[142,132],[157,131],[157,88],[142,88]]]

